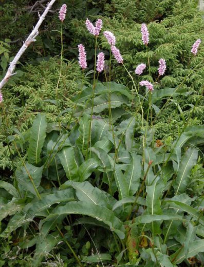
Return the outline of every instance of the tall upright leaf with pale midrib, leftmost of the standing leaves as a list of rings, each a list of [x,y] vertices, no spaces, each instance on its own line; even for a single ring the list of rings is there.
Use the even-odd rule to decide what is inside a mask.
[[[28,163],[38,164],[46,137],[47,122],[44,114],[39,113],[33,121],[28,147]]]

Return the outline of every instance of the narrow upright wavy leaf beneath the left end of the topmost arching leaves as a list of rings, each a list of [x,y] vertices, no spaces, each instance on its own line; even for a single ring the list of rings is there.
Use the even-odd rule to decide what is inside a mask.
[[[85,154],[89,138],[90,116],[84,113],[83,117],[79,120],[79,138],[77,145],[81,148],[82,153]]]

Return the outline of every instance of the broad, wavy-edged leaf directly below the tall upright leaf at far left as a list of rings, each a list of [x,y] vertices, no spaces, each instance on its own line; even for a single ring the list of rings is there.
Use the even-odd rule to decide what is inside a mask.
[[[41,167],[35,167],[32,164],[26,163],[25,166],[16,169],[15,177],[18,181],[18,184],[20,185],[20,188],[22,188],[24,191],[28,191],[33,195],[37,196],[35,189],[30,181],[29,175],[35,187],[38,188],[41,183],[41,178],[43,175],[43,167],[44,165]]]

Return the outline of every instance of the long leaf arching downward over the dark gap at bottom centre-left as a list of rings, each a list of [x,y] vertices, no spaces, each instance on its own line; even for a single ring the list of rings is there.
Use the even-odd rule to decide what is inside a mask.
[[[110,211],[106,207],[101,207],[99,205],[83,201],[73,201],[71,203],[65,204],[64,206],[57,206],[53,209],[52,213],[50,213],[50,215],[46,219],[41,221],[39,227],[41,227],[42,224],[48,219],[63,214],[81,214],[93,217],[107,224],[110,230],[115,232],[121,239],[125,237],[125,228],[123,226],[123,222],[118,219],[112,211]]]

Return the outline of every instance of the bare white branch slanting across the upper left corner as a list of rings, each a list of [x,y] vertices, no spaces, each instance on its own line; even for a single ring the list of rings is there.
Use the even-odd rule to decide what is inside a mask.
[[[13,59],[13,61],[10,63],[10,66],[9,66],[7,72],[6,72],[6,75],[5,75],[4,79],[0,83],[0,90],[8,82],[8,80],[10,79],[10,77],[15,74],[15,73],[13,73],[13,71],[15,69],[15,66],[16,66],[18,60],[21,58],[22,54],[26,51],[26,49],[28,48],[28,46],[31,43],[33,43],[33,42],[36,41],[35,38],[39,34],[39,31],[38,30],[39,30],[39,28],[40,28],[41,24],[43,23],[46,15],[47,15],[47,13],[49,12],[50,8],[52,7],[52,5],[54,4],[55,1],[56,0],[51,0],[50,3],[47,4],[47,7],[46,7],[45,11],[39,17],[38,23],[35,25],[34,29],[30,33],[30,35],[28,36],[28,38],[26,39],[26,41],[23,43],[23,46],[21,47],[21,49],[15,55],[15,58]]]

